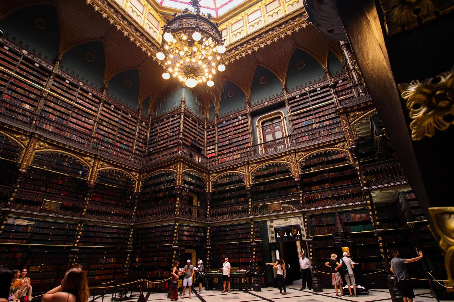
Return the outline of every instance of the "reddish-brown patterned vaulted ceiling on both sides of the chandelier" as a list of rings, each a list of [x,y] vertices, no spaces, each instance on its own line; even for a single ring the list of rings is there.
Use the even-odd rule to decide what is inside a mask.
[[[152,57],[145,53],[137,43],[125,36],[124,31],[119,26],[110,24],[108,18],[103,18],[103,14],[95,11],[92,5],[87,4],[86,0],[15,0],[0,2],[0,17],[7,18],[9,15],[20,14],[20,10],[33,5],[54,5],[58,17],[59,43],[57,58],[62,58],[70,49],[90,41],[101,41],[104,46],[104,73],[102,83],[108,83],[110,79],[121,72],[129,69],[138,69],[139,72],[139,93],[138,101],[142,101],[151,95],[151,102],[157,100],[159,96],[170,86],[174,85],[175,80],[164,80],[161,77],[163,68]],[[304,8],[302,9],[304,10]],[[39,18],[39,15],[36,16]],[[0,25],[1,26],[1,25]],[[2,28],[6,33],[8,29]],[[12,38],[10,36],[10,38]],[[270,69],[282,83],[286,83],[286,73],[291,55],[296,48],[303,49],[311,54],[320,65],[326,69],[328,54],[330,50],[341,58],[337,43],[329,40],[318,33],[314,26],[304,23],[298,30],[286,32],[281,30],[281,34],[267,41],[267,34],[253,37],[258,47],[253,51],[243,53],[240,58],[235,58],[227,62],[225,72],[218,72],[214,78],[215,86],[207,87],[198,85],[195,88],[199,100],[207,108],[210,102],[217,103],[220,100],[223,81],[232,81],[245,95],[249,97],[252,85],[252,77],[258,65]],[[251,38],[252,39],[252,38]],[[262,45],[260,43],[264,41]],[[25,43],[27,41],[24,41]],[[235,43],[227,48],[227,53],[242,49],[242,45],[251,43],[250,39],[243,38],[241,43]],[[36,49],[39,51],[39,49]],[[56,58],[49,58],[54,60]],[[84,76],[84,75],[80,75]]]

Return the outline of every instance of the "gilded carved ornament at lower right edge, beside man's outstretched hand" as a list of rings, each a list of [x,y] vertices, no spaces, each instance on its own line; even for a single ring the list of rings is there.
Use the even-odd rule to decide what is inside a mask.
[[[444,249],[444,265],[448,281],[454,286],[454,206],[429,208],[435,230],[440,235],[440,247]]]

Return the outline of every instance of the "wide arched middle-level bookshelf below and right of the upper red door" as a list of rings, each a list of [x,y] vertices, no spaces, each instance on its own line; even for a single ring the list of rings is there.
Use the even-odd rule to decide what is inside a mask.
[[[345,151],[316,153],[305,158],[300,167],[304,192],[359,183],[355,166]]]

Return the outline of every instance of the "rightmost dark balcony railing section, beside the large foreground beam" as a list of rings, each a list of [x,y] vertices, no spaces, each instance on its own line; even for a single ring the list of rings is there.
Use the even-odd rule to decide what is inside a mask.
[[[390,187],[408,183],[397,158],[362,166],[367,187]]]

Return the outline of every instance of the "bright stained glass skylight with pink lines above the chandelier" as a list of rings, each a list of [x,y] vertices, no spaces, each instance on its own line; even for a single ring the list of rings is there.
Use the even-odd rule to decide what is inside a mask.
[[[189,1],[183,0],[158,0],[160,5],[176,8],[178,10],[184,10],[190,8]],[[235,6],[243,3],[246,0],[201,0],[202,12],[205,14],[211,14],[213,17],[219,17],[220,15],[227,13]]]

